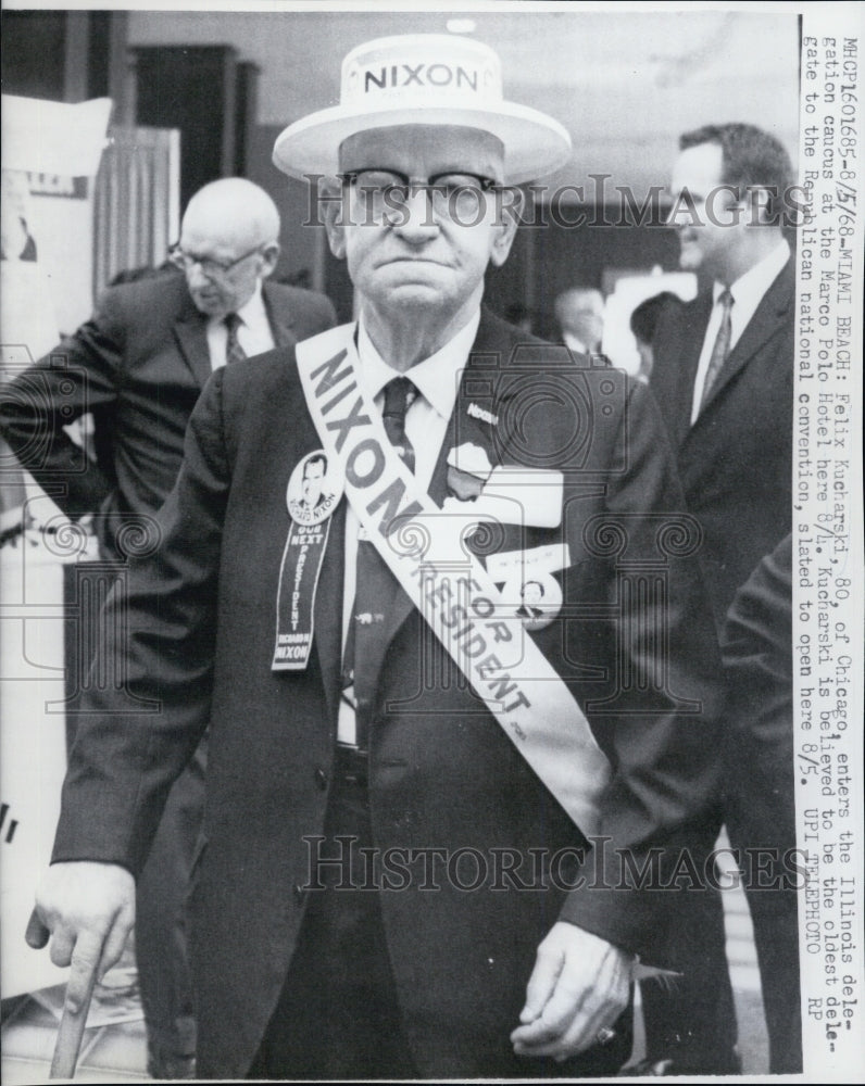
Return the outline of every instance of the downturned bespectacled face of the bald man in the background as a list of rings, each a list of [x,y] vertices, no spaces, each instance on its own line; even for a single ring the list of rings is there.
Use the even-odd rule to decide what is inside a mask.
[[[184,216],[180,249],[187,257],[189,293],[196,307],[210,317],[224,317],[246,305],[275,262],[251,227],[192,210]]]

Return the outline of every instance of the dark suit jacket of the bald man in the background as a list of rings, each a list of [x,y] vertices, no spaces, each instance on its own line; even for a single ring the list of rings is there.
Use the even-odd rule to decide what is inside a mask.
[[[324,295],[263,289],[277,345],[333,327]],[[151,536],[151,515],[174,484],[211,375],[205,327],[177,272],[110,287],[86,324],[4,390],[0,429],[12,451],[64,513],[103,515],[97,530],[109,554],[125,523]],[[87,412],[96,463],[63,430]]]

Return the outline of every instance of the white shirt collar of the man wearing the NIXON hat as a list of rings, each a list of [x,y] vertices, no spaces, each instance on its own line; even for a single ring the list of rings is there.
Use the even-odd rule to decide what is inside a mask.
[[[434,411],[441,418],[449,419],[453,414],[460,379],[468,362],[468,353],[475,342],[479,323],[480,310],[444,346],[412,366],[406,374],[400,375],[378,353],[361,320],[358,328],[358,354],[367,392],[375,397],[394,377],[410,377]]]

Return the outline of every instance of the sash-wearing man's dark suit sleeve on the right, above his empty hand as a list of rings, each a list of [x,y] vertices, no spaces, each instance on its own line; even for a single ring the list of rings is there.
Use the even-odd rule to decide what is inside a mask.
[[[702,879],[717,832],[724,686],[699,527],[642,387],[631,388],[616,445],[614,462],[625,467],[610,477],[602,518],[612,534],[599,526],[598,538],[620,550],[614,560],[589,559],[613,616],[596,639],[597,662],[613,681],[585,705],[613,776],[593,873],[568,895],[562,919],[675,968],[673,900]]]

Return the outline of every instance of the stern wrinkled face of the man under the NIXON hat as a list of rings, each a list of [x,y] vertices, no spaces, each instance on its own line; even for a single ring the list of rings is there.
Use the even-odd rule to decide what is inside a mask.
[[[330,248],[347,260],[362,302],[405,314],[455,312],[474,294],[479,300],[488,264],[502,264],[510,251],[517,216],[502,214],[502,204],[515,206],[517,194],[479,188],[461,203],[422,186],[454,174],[499,185],[503,159],[494,137],[469,128],[404,125],[344,141],[343,175],[387,171],[411,182],[408,192],[390,195],[364,188],[362,179],[347,182],[341,224],[337,209],[328,209]]]

